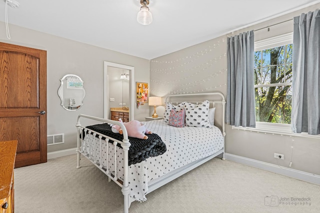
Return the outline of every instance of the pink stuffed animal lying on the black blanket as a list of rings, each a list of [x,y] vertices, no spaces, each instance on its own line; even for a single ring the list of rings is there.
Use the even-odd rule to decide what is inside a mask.
[[[148,139],[148,136],[144,135],[144,133],[152,134],[152,132],[147,130],[145,125],[143,125],[140,121],[133,120],[127,123],[123,123],[123,125],[125,126],[128,136],[132,138],[139,138],[139,139],[146,140]],[[119,125],[112,126],[112,132],[115,132],[113,131],[113,129],[115,129],[115,131],[120,133],[121,135],[123,134],[123,131]]]

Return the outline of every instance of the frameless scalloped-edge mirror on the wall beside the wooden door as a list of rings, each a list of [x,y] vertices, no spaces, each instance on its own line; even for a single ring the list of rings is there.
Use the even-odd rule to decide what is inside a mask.
[[[83,105],[85,90],[83,81],[77,75],[67,74],[60,79],[61,85],[58,89],[60,105],[69,111],[78,110]]]

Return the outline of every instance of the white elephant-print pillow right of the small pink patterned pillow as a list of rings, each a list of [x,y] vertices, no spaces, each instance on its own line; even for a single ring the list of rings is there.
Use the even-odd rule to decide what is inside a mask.
[[[209,101],[196,105],[185,103],[185,125],[189,127],[211,127],[209,122]]]

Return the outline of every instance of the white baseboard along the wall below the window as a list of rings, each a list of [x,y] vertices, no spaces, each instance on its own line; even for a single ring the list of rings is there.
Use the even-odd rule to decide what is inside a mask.
[[[291,168],[279,167],[274,164],[269,164],[269,163],[265,163],[262,161],[257,161],[257,160],[253,160],[250,158],[244,158],[241,156],[232,155],[232,154],[228,154],[228,153],[225,153],[225,159],[227,159],[229,161],[234,161],[236,163],[255,167],[258,169],[262,169],[265,171],[273,172],[273,173],[276,173],[279,175],[284,175],[284,176],[287,176],[290,178],[295,178],[295,179],[298,179],[301,181],[320,185],[320,176],[319,175],[314,175],[311,173],[302,172],[302,171],[294,170]]]

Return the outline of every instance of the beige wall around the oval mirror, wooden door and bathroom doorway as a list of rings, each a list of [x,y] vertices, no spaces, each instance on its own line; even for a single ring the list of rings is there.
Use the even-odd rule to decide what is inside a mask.
[[[48,146],[48,152],[76,147],[76,118],[79,113],[103,118],[103,61],[134,67],[136,81],[149,82],[149,61],[135,56],[64,39],[27,28],[9,25],[11,39],[0,21],[0,41],[47,51],[47,134],[64,133],[64,144]],[[94,36],[94,35],[92,35]],[[57,89],[65,74],[78,75],[86,92],[77,111],[60,106]],[[135,119],[149,115],[149,107],[134,107]]]

